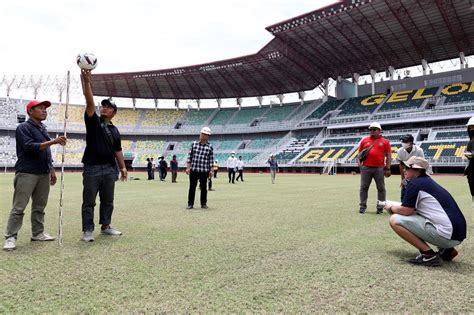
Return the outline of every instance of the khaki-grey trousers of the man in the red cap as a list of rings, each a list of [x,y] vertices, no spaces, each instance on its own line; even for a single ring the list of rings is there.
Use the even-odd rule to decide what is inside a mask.
[[[26,206],[31,205],[31,232],[33,236],[44,232],[44,208],[48,203],[50,174],[16,173],[13,180],[13,206],[5,229],[5,238],[17,237],[23,224]]]

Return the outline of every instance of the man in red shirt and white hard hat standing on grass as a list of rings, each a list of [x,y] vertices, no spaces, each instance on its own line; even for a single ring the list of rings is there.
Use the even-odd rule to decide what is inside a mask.
[[[360,208],[359,213],[364,214],[367,209],[367,196],[372,178],[377,185],[377,199],[384,201],[385,177],[391,175],[392,148],[390,142],[382,137],[382,127],[379,123],[373,122],[369,126],[370,136],[362,139],[359,145],[359,155],[357,161],[360,167]],[[368,149],[367,157],[362,159],[361,152]],[[377,205],[377,214],[383,213],[383,206]]]

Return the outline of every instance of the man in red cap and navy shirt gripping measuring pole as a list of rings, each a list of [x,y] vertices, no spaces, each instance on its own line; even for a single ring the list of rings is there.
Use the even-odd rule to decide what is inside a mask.
[[[54,237],[44,232],[44,208],[48,202],[49,186],[56,184],[56,173],[53,168],[50,146],[66,144],[66,138],[59,136],[51,139],[46,126],[41,122],[46,119],[49,101],[30,101],[26,105],[29,119],[16,128],[15,179],[13,185],[13,207],[5,229],[4,250],[14,250],[16,239],[23,223],[26,206],[31,205],[32,241],[53,241]]]

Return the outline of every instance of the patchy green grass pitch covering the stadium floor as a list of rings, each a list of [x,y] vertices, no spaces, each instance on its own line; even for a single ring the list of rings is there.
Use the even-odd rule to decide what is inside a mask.
[[[12,179],[0,175],[2,229]],[[465,178],[435,179],[472,214]],[[358,176],[278,175],[275,185],[267,174],[236,185],[220,176],[210,208],[193,211],[187,176],[178,180],[118,183],[113,225],[124,235],[86,244],[81,175],[66,174],[64,244],[30,243],[28,207],[17,250],[0,253],[0,313],[474,311],[472,239],[441,268],[407,264],[416,250],[388,215],[357,213]],[[398,184],[387,180],[388,199]],[[375,196],[372,184],[370,205]],[[54,235],[58,198],[59,185],[46,216]]]

